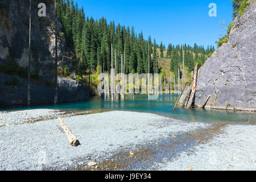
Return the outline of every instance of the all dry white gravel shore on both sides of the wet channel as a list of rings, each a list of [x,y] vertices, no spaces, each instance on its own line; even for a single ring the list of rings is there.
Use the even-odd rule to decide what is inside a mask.
[[[25,114],[26,113],[26,114]],[[171,136],[205,129],[210,123],[185,122],[156,114],[110,111],[63,118],[80,145],[72,147],[57,119],[26,123],[29,118],[62,114],[58,110],[26,110],[0,113],[0,170],[64,170],[102,163],[120,151],[135,151],[140,145],[156,144]],[[19,125],[15,119],[19,118]],[[241,132],[241,133],[240,133]],[[152,169],[255,170],[255,134],[253,125],[228,125],[224,133],[175,161],[155,163]],[[230,142],[232,140],[232,142]],[[231,155],[232,154],[232,155]],[[218,159],[211,164],[212,158]]]

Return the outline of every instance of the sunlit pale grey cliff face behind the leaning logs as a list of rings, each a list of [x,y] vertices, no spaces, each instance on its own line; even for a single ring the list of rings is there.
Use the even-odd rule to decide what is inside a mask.
[[[195,105],[256,110],[256,3],[234,20],[229,41],[199,69]]]

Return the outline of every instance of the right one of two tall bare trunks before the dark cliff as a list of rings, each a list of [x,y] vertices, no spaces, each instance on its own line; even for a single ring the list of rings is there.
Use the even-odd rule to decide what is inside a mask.
[[[58,73],[57,73],[57,12],[56,12],[56,0],[55,0],[55,89],[54,89],[54,104],[58,102]]]

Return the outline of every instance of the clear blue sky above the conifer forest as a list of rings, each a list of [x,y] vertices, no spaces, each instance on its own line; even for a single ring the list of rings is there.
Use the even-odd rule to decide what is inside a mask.
[[[75,0],[76,2],[76,0]],[[134,26],[135,32],[143,31],[145,39],[151,35],[156,43],[187,43],[193,46],[216,46],[215,41],[224,35],[223,26],[232,22],[232,0],[77,0],[84,6],[85,15],[99,19],[104,16],[108,23],[114,20],[127,26]],[[216,3],[217,17],[210,17],[209,3]]]

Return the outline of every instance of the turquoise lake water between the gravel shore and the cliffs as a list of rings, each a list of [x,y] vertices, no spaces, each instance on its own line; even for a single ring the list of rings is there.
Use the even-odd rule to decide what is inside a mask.
[[[185,121],[228,122],[256,124],[256,113],[225,110],[184,109],[177,107],[173,110],[177,94],[162,95],[158,100],[148,101],[147,95],[134,95],[134,100],[111,101],[111,98],[93,97],[88,101],[65,102],[57,105],[33,106],[0,106],[0,111],[26,110],[26,109],[63,109],[63,110],[126,110],[154,113],[182,119]]]

